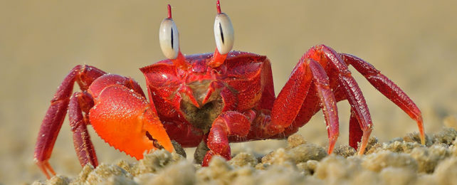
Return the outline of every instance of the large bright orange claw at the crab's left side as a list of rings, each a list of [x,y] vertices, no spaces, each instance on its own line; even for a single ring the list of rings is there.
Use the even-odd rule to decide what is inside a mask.
[[[109,86],[95,98],[90,122],[105,142],[136,159],[157,147],[174,149],[145,97],[122,85]],[[160,146],[154,147],[154,140]]]

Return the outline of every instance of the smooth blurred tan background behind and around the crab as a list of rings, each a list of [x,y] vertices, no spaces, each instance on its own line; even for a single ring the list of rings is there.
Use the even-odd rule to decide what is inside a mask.
[[[172,4],[183,53],[214,51],[216,1],[0,1],[0,184],[44,179],[33,164],[38,128],[57,86],[73,66],[87,63],[145,80],[138,68],[164,56],[159,23]],[[279,93],[298,58],[325,43],[352,53],[394,80],[421,108],[426,132],[456,115],[456,1],[222,1],[235,28],[235,50],[267,55]],[[353,68],[386,142],[416,132],[413,120]],[[78,89],[78,88],[75,88]],[[338,104],[340,139],[347,144],[349,105]],[[322,114],[300,132],[327,144]],[[80,171],[65,120],[51,165],[58,174]],[[128,159],[92,132],[99,162]],[[266,144],[267,143],[267,144]],[[233,152],[265,154],[283,142],[234,144]],[[188,153],[192,156],[193,153]]]

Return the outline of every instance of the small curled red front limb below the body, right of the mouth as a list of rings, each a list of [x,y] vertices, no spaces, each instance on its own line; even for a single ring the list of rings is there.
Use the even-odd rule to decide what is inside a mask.
[[[215,154],[230,160],[229,136],[246,137],[249,129],[251,120],[246,115],[236,111],[222,112],[211,125],[206,142],[209,151],[206,152],[201,165],[208,166]]]

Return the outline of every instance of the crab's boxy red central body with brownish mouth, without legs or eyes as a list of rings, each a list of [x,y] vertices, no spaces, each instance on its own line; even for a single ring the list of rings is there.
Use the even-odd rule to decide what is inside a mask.
[[[187,56],[191,73],[176,68],[171,60],[141,68],[157,115],[170,139],[183,147],[196,147],[221,112],[246,112],[253,115],[251,121],[258,117],[256,112],[271,110],[275,100],[270,62],[265,56],[235,51],[223,65],[211,68],[206,63],[212,56]],[[240,129],[248,131],[249,127]]]

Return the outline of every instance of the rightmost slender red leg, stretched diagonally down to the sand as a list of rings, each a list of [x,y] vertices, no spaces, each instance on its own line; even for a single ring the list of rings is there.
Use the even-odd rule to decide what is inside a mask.
[[[341,54],[342,59],[346,63],[354,66],[354,68],[359,71],[365,78],[371,83],[374,88],[379,90],[384,96],[389,98],[397,106],[401,108],[406,114],[409,115],[413,120],[416,120],[417,127],[419,127],[419,133],[421,134],[421,143],[425,144],[425,134],[424,134],[424,122],[422,121],[421,110],[414,104],[406,93],[403,92],[392,80],[389,80],[385,75],[374,68],[373,65],[367,63],[366,61],[352,56],[350,54]]]

